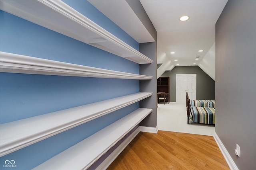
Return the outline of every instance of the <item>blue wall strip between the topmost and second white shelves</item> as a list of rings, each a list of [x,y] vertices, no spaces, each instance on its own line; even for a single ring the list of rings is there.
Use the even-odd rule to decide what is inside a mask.
[[[137,63],[1,10],[0,23],[0,51],[139,74]]]

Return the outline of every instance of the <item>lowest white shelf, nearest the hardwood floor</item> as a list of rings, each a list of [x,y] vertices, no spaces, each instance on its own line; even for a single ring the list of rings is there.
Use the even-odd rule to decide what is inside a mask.
[[[33,170],[82,170],[90,167],[100,156],[142,121],[152,109],[139,108],[112,123],[80,143],[40,164]]]

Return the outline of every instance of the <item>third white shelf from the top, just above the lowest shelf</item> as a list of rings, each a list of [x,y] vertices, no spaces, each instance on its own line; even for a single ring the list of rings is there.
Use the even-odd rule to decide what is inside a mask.
[[[147,92],[130,94],[1,124],[0,156],[32,145],[150,96],[152,96],[152,93]]]

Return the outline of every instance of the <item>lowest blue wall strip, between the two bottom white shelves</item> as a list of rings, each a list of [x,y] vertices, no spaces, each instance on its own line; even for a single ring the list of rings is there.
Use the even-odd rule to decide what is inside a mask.
[[[138,103],[124,107],[70,130],[44,139],[38,143],[34,143],[33,145],[2,156],[0,157],[0,165],[1,167],[5,165],[5,160],[14,160],[17,165],[16,169],[30,170],[96,133],[107,125],[117,121],[123,116],[128,115],[134,111],[134,107],[138,107]]]

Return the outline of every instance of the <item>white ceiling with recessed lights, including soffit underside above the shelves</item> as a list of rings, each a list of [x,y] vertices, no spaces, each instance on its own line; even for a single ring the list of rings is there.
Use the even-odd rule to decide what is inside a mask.
[[[152,42],[152,37],[126,0],[88,1],[139,43]],[[227,1],[140,0],[157,31],[159,49],[166,53],[174,66],[200,63],[215,42],[215,23]],[[180,21],[184,15],[190,19]],[[201,49],[204,51],[198,52]],[[170,54],[172,51],[175,54]],[[200,57],[199,60],[195,60],[196,57]]]

